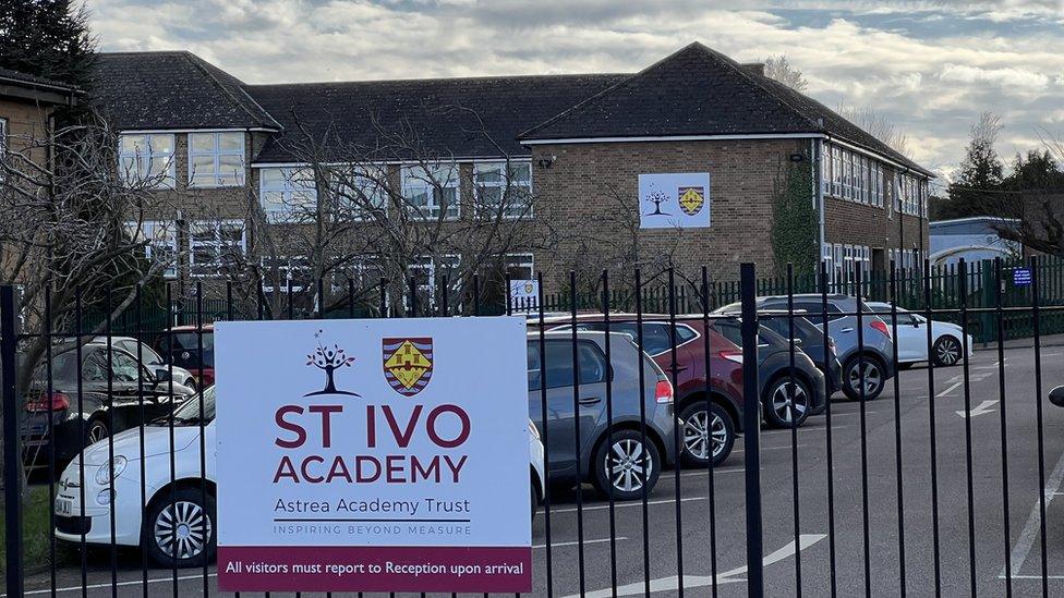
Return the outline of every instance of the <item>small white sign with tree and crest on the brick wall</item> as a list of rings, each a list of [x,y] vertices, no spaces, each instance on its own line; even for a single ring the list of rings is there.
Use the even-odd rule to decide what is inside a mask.
[[[704,229],[709,225],[709,172],[639,175],[640,229]]]

